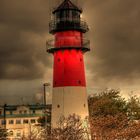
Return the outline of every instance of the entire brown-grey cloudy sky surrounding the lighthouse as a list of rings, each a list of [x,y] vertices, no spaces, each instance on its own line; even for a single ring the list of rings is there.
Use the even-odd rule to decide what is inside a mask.
[[[0,0],[0,104],[35,101],[52,82],[46,53],[50,9],[61,0]],[[74,0],[89,24],[85,55],[89,93],[117,88],[140,93],[140,1]],[[48,91],[51,89],[48,88]],[[133,92],[132,92],[133,91]]]

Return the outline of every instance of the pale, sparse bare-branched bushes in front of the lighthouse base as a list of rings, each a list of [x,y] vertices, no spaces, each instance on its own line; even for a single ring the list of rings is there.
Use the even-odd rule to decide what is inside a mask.
[[[82,120],[77,115],[61,117],[56,128],[52,128],[48,134],[45,126],[34,126],[28,136],[23,136],[23,140],[89,140],[88,120]]]

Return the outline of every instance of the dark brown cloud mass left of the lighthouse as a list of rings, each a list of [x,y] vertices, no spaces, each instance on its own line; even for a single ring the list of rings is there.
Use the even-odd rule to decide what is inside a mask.
[[[48,2],[3,0],[0,9],[0,79],[43,77]]]

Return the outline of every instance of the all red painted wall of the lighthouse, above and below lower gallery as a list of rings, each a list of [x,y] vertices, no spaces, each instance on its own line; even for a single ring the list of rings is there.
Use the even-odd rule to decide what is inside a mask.
[[[82,33],[78,31],[58,32],[56,47],[81,47]],[[54,53],[53,87],[86,86],[84,60],[81,50],[59,50]]]

